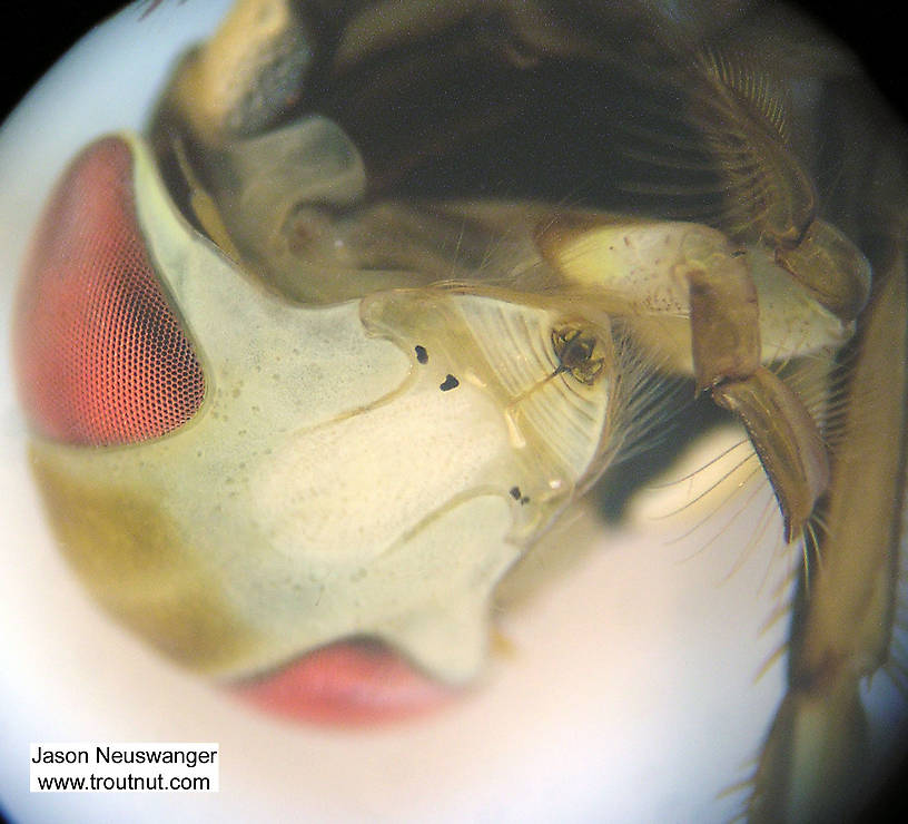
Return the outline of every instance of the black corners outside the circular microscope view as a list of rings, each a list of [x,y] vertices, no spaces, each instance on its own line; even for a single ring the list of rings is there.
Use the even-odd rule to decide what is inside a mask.
[[[175,0],[165,0],[174,2]],[[620,0],[603,0],[614,2]],[[206,2],[206,0],[185,0]],[[796,3],[807,8],[860,57],[868,73],[890,104],[908,114],[908,72],[900,8],[891,0],[858,3]],[[122,3],[112,0],[69,0],[50,3],[11,0],[0,11],[3,48],[0,50],[0,118],[38,81],[43,72],[92,26]],[[907,118],[908,119],[908,118]],[[2,184],[2,182],[0,182]],[[866,821],[905,821],[908,812],[908,761],[884,793],[870,802]],[[2,806],[0,805],[0,820]]]

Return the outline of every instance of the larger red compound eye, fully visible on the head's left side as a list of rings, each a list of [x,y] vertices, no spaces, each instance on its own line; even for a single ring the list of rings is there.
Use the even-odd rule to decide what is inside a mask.
[[[31,424],[65,443],[138,443],[198,410],[205,379],[148,259],[124,140],[89,146],[53,193],[24,269],[14,351]]]

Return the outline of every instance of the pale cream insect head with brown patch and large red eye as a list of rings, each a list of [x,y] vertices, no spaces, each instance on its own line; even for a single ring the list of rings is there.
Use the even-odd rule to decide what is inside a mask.
[[[186,224],[140,138],[99,140],[51,198],[17,313],[65,551],[108,609],[243,691],[359,638],[435,691],[468,683],[493,587],[609,451],[609,328],[572,345],[569,307],[534,303],[294,305]],[[330,703],[295,687],[300,714]]]

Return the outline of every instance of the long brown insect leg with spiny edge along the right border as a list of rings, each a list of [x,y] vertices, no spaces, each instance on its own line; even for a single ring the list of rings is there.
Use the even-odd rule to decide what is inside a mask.
[[[796,609],[789,688],[757,771],[753,821],[839,818],[842,802],[859,802],[867,766],[859,685],[889,656],[902,540],[907,272],[901,244],[878,268],[861,316],[831,461],[822,563]]]

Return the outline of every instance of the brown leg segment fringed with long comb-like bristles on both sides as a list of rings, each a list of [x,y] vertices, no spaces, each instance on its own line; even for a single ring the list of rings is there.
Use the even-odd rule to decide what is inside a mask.
[[[710,49],[652,81],[616,126],[635,210],[698,219],[734,239],[797,242],[816,192],[790,146],[789,91],[750,55]]]

